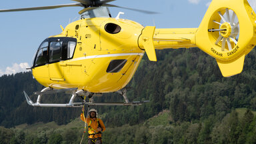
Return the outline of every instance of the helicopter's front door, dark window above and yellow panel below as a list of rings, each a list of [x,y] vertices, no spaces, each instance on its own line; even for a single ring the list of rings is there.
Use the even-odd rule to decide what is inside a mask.
[[[62,59],[63,41],[51,41],[49,44],[49,76],[52,81],[64,81],[63,67],[59,61]]]

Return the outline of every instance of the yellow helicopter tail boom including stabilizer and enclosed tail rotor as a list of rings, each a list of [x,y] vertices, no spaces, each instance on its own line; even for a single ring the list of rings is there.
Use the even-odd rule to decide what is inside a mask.
[[[139,37],[149,60],[157,61],[155,49],[199,47],[217,60],[224,77],[241,73],[255,45],[256,14],[247,0],[213,0],[198,29],[145,27]]]

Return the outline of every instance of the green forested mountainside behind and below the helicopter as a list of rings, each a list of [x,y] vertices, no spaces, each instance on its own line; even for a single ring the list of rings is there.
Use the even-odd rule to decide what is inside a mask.
[[[157,51],[157,59],[145,55],[127,85],[130,101],[149,103],[93,107],[107,127],[103,143],[256,143],[255,50],[233,77],[223,77],[215,59],[197,48]],[[23,91],[35,101],[41,89],[31,73],[0,77],[0,143],[80,143],[81,109],[27,105]],[[69,98],[60,93],[42,101]],[[95,101],[124,100],[106,93]]]

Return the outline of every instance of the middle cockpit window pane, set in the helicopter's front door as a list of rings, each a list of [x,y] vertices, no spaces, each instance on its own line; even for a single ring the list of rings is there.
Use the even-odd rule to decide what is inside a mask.
[[[61,60],[61,47],[62,41],[52,41],[50,43],[49,51],[50,51],[50,59],[49,62],[60,61]]]

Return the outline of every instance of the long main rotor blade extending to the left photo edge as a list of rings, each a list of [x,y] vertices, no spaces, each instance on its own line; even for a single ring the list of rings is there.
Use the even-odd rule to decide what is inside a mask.
[[[43,10],[43,9],[57,9],[61,7],[83,7],[81,3],[70,3],[64,5],[51,5],[45,7],[28,7],[28,8],[21,8],[21,9],[0,9],[0,12],[10,12],[10,11],[34,11],[34,10]]]

